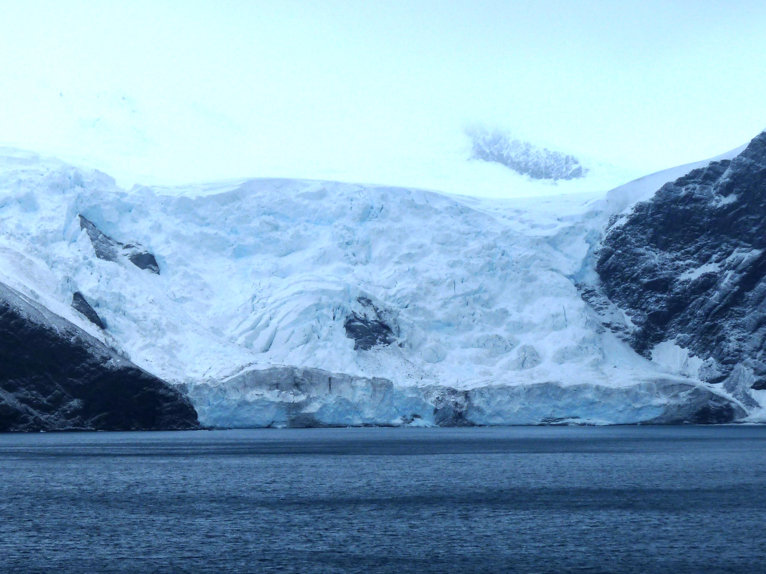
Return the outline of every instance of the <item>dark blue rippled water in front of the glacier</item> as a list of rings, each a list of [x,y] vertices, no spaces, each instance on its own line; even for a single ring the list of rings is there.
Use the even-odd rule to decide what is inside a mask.
[[[0,572],[764,572],[766,428],[0,435]]]

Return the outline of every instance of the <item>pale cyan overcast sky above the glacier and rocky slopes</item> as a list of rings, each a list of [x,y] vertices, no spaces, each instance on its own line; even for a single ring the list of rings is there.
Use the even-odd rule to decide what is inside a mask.
[[[614,187],[766,128],[766,2],[27,2],[0,8],[0,145],[135,183],[539,193],[466,130]],[[588,179],[588,178],[586,178]]]

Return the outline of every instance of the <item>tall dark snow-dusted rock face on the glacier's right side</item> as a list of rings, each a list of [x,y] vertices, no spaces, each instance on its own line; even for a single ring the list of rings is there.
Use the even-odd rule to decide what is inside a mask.
[[[615,217],[596,269],[636,351],[673,341],[700,378],[754,405],[749,389],[766,389],[766,132]]]

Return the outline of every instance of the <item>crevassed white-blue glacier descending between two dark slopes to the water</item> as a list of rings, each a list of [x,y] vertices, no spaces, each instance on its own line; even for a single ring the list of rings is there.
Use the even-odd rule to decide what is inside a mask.
[[[128,191],[9,150],[0,282],[178,386],[205,425],[757,417],[755,394],[634,351],[594,266],[610,217],[676,177],[527,200],[286,179]]]

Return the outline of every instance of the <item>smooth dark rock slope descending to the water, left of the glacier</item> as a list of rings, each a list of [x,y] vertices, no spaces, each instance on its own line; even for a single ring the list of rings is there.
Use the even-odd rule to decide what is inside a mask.
[[[0,283],[0,431],[198,426],[178,390]]]

